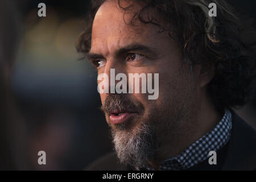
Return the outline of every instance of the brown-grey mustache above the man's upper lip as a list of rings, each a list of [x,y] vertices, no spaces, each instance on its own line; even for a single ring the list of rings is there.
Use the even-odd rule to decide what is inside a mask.
[[[143,106],[139,102],[131,101],[127,94],[109,94],[100,109],[106,114],[122,111],[138,113]]]

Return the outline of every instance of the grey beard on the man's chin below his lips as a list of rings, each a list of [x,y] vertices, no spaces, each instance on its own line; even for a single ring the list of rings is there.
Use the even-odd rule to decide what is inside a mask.
[[[156,156],[154,127],[143,123],[136,131],[112,130],[115,152],[119,162],[130,167],[147,167],[148,159]]]

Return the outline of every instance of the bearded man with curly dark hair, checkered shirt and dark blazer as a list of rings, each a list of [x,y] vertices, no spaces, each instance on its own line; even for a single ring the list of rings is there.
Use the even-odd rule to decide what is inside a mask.
[[[210,3],[217,16],[209,16]],[[127,77],[158,73],[152,81],[159,81],[159,96],[112,92],[104,84],[101,109],[115,153],[88,169],[256,169],[256,132],[231,109],[253,90],[255,50],[242,43],[239,20],[225,1],[106,0],[92,10],[77,48],[99,76],[109,76],[98,84],[113,83],[113,69]]]

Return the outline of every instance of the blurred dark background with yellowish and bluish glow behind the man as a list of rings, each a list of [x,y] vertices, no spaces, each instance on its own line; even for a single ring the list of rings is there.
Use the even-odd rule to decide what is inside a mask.
[[[3,1],[3,0],[0,0]],[[38,4],[46,4],[46,17]],[[230,1],[255,20],[254,0]],[[97,92],[96,70],[75,43],[86,26],[88,0],[16,0],[20,41],[11,66],[15,105],[7,142],[16,169],[84,169],[112,150]],[[4,26],[2,23],[0,26]],[[237,110],[256,128],[256,99]],[[4,148],[5,146],[1,146]],[[38,151],[47,165],[38,165]]]

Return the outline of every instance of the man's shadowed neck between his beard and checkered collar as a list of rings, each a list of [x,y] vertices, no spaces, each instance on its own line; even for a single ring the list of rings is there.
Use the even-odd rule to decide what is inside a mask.
[[[159,148],[158,158],[149,162],[152,168],[157,169],[163,160],[180,155],[181,152],[207,134],[220,122],[221,114],[214,107],[207,92],[203,92],[203,97],[202,94],[200,97],[204,99],[192,110],[192,117],[190,119],[185,118],[187,121],[182,122],[183,125],[177,130],[178,133],[175,136],[165,137],[166,139],[162,141],[163,144]]]

